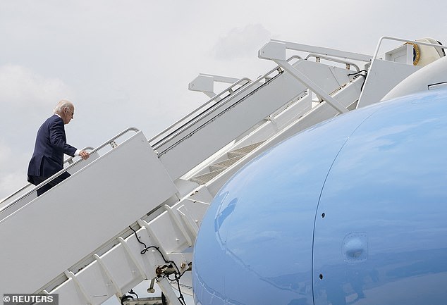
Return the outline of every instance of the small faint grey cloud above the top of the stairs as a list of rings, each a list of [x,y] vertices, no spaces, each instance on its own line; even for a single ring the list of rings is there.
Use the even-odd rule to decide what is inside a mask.
[[[235,27],[219,38],[213,51],[217,59],[254,58],[270,38],[271,32],[261,24]]]

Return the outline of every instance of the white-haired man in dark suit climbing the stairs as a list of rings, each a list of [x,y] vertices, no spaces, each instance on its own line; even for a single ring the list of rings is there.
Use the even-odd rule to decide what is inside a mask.
[[[33,185],[47,180],[63,169],[63,154],[80,156],[86,160],[90,154],[67,144],[64,125],[70,123],[75,115],[75,106],[71,101],[62,100],[54,108],[54,115],[49,117],[37,131],[36,144],[28,166],[28,181]],[[40,196],[48,189],[70,176],[65,172],[51,182],[37,189]]]

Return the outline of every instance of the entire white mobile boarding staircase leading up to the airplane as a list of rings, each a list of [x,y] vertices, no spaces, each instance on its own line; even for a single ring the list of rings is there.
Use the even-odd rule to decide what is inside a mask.
[[[286,49],[309,55],[286,61]],[[259,57],[278,66],[219,94],[205,75],[190,88],[205,84],[211,99],[159,135],[147,140],[129,128],[91,149],[87,161],[69,159],[71,177],[40,197],[27,186],[1,201],[0,294],[102,304],[151,280],[149,290],[157,282],[169,304],[183,304],[173,286],[188,277],[200,221],[221,186],[283,139],[357,108],[365,77],[374,83],[372,56],[272,40]],[[417,70],[402,67],[397,78]]]

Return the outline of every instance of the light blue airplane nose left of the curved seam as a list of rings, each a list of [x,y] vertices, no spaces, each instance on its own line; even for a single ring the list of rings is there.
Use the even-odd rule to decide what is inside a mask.
[[[195,244],[196,304],[313,304],[319,196],[331,163],[365,116],[287,139],[222,187]]]

